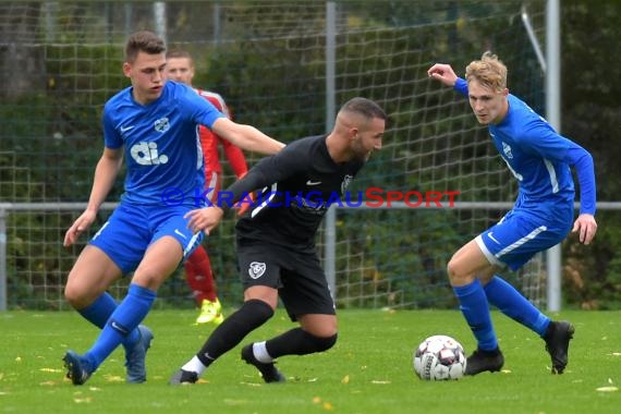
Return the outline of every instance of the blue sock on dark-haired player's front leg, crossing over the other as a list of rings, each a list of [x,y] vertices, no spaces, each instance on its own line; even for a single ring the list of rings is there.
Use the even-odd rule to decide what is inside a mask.
[[[127,295],[117,306],[108,322],[101,330],[93,348],[84,354],[92,363],[94,369],[106,360],[121,344],[125,338],[136,330],[141,321],[147,316],[156,299],[156,292],[130,284]]]

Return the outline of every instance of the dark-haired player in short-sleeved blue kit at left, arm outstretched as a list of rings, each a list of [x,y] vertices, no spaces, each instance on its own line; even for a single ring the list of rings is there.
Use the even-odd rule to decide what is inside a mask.
[[[124,194],[72,268],[64,295],[101,333],[85,354],[68,351],[64,364],[74,385],[84,383],[112,351],[125,349],[127,382],[146,380],[151,331],[139,325],[159,285],[200,243],[185,214],[204,188],[197,135],[203,124],[241,148],[275,154],[283,147],[249,125],[232,122],[192,88],[165,81],[166,46],[150,32],[130,36],[123,73],[132,86],[104,109],[105,148],[86,210],[66,231],[70,246],[94,222],[125,160]],[[117,304],[107,289],[134,272]]]

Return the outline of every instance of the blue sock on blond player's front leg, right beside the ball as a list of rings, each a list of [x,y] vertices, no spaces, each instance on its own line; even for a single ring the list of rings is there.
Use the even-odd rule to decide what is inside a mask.
[[[498,348],[498,340],[485,291],[478,279],[463,287],[453,287],[453,292],[460,302],[460,309],[464,315],[470,329],[476,338],[479,350],[494,351]]]

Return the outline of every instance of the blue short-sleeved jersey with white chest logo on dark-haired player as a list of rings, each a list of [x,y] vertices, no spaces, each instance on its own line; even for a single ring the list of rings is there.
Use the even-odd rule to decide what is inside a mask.
[[[104,109],[105,145],[112,149],[124,146],[122,200],[153,205],[166,197],[169,205],[194,204],[195,192],[204,187],[205,180],[198,124],[210,129],[221,117],[192,88],[172,81],[148,105],[134,100],[132,87],[108,100]]]

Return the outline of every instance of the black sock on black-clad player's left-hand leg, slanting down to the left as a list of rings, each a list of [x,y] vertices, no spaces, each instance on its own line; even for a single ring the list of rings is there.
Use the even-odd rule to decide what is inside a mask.
[[[211,332],[196,356],[203,365],[209,366],[220,355],[235,348],[246,334],[265,324],[272,315],[272,308],[263,301],[244,302],[238,312],[227,317]]]

